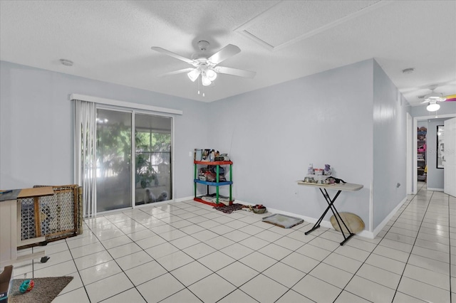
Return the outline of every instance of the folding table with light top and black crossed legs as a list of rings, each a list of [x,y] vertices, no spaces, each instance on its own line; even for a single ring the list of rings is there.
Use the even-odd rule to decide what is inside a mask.
[[[353,235],[355,235],[354,233],[352,233],[350,231],[350,229],[348,228],[346,223],[343,222],[341,215],[339,215],[338,211],[336,210],[336,206],[334,206],[334,201],[336,201],[336,198],[339,196],[339,194],[341,194],[342,191],[359,191],[361,188],[363,188],[363,186],[361,184],[352,184],[352,183],[314,184],[314,183],[308,183],[308,182],[304,182],[304,181],[298,181],[298,184],[304,185],[304,186],[317,187],[321,191],[321,194],[323,195],[323,197],[325,198],[326,203],[328,203],[328,207],[326,208],[326,210],[323,212],[321,217],[316,221],[314,227],[311,228],[310,230],[306,231],[306,233],[305,233],[306,235],[308,235],[309,233],[313,232],[314,230],[316,230],[317,228],[320,227],[321,221],[323,220],[324,216],[326,216],[326,213],[328,213],[328,211],[330,209],[334,214],[334,218],[336,218],[337,224],[339,225],[339,228],[341,229],[341,233],[344,238],[344,240],[341,242],[341,245],[345,244],[348,241],[348,239],[350,239],[351,237],[353,237]],[[326,188],[337,191],[336,195],[332,199],[329,196],[328,191],[326,191]],[[343,228],[341,226],[341,223],[345,226],[345,228],[350,233],[348,236],[346,236],[345,233],[343,233]]]

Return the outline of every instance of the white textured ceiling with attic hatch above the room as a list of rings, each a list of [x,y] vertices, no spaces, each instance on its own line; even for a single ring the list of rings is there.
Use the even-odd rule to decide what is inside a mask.
[[[456,1],[0,1],[0,60],[210,102],[375,58],[410,104],[456,94]],[[190,58],[227,44],[241,53],[220,65],[205,97]],[[59,59],[72,60],[67,67]],[[403,74],[405,68],[415,68]],[[323,93],[323,92],[322,92]]]

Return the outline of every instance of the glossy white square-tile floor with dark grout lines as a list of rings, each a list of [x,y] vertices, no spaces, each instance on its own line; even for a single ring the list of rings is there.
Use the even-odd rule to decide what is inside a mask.
[[[284,229],[195,201],[109,213],[33,248],[51,257],[34,277],[74,277],[56,303],[456,303],[456,198],[423,185],[375,239],[344,246],[334,230],[304,235],[311,224]]]

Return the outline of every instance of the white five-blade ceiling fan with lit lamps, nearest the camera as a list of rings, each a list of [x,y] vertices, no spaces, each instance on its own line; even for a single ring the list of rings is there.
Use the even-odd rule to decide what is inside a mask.
[[[209,56],[207,55],[207,47],[209,46],[209,42],[207,41],[199,41],[199,53],[195,53],[192,55],[192,58],[185,58],[182,55],[177,55],[177,53],[172,53],[170,50],[165,50],[164,48],[160,48],[157,46],[152,46],[152,50],[157,51],[158,53],[163,53],[165,55],[169,55],[172,58],[176,58],[182,60],[186,63],[193,65],[193,68],[184,68],[182,70],[175,70],[170,73],[162,74],[165,75],[176,75],[180,73],[187,73],[188,78],[195,82],[201,75],[202,85],[207,86],[211,85],[212,81],[217,78],[217,73],[227,74],[227,75],[235,75],[238,77],[244,78],[254,78],[257,74],[256,72],[252,72],[249,70],[239,70],[237,68],[227,68],[225,66],[219,66],[218,64],[228,58],[236,55],[241,51],[240,48],[234,46],[232,44],[228,44],[217,53]]]

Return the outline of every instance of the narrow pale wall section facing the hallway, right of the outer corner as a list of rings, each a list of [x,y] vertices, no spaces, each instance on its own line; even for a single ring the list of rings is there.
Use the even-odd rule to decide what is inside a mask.
[[[406,197],[407,119],[403,95],[373,64],[373,228]],[[398,186],[400,184],[400,186]]]

